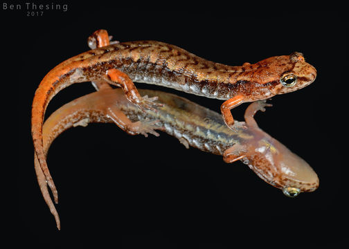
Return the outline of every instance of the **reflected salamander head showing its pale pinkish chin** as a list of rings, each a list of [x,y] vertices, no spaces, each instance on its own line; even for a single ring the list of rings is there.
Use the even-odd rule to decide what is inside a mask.
[[[247,157],[242,161],[267,183],[291,197],[319,187],[319,178],[312,167],[285,145],[271,137],[253,144],[248,146]]]

